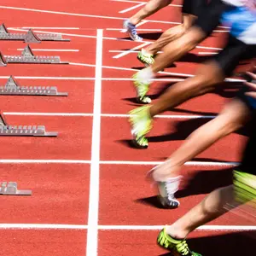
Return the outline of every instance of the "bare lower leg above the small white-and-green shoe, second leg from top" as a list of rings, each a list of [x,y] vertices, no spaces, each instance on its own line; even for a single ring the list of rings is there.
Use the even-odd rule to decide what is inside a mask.
[[[182,37],[183,34],[192,26],[195,19],[195,15],[183,14],[183,24],[173,26],[172,28],[166,30],[166,32],[163,32],[158,40],[154,41],[153,44],[149,44],[148,47],[145,48],[145,51],[150,55],[157,54],[157,52],[166,46],[166,44],[169,44],[173,40]]]

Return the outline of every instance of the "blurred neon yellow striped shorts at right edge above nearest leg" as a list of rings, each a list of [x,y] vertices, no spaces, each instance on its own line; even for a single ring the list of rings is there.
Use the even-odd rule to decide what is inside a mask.
[[[233,177],[236,201],[256,207],[256,176],[234,170]]]

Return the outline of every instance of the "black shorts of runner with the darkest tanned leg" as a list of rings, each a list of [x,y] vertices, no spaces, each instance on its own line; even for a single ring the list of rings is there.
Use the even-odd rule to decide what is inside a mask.
[[[256,56],[256,44],[244,44],[237,38],[229,36],[228,43],[218,55],[212,57],[218,63],[225,76],[230,76],[239,61],[251,59]]]

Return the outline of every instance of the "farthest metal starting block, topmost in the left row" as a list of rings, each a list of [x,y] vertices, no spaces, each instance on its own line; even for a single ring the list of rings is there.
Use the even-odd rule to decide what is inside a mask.
[[[61,34],[35,34],[32,29],[29,29],[26,33],[10,33],[4,24],[0,26],[0,40],[24,41],[25,43],[41,43],[42,41],[70,42],[70,39],[63,39]]]

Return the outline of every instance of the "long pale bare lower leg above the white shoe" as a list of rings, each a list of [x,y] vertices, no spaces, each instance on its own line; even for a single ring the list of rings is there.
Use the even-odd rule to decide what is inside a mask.
[[[193,159],[222,137],[238,130],[251,117],[251,111],[239,99],[229,102],[215,119],[202,125],[186,139],[164,164],[155,168],[154,180],[164,181],[177,177],[183,164]]]

